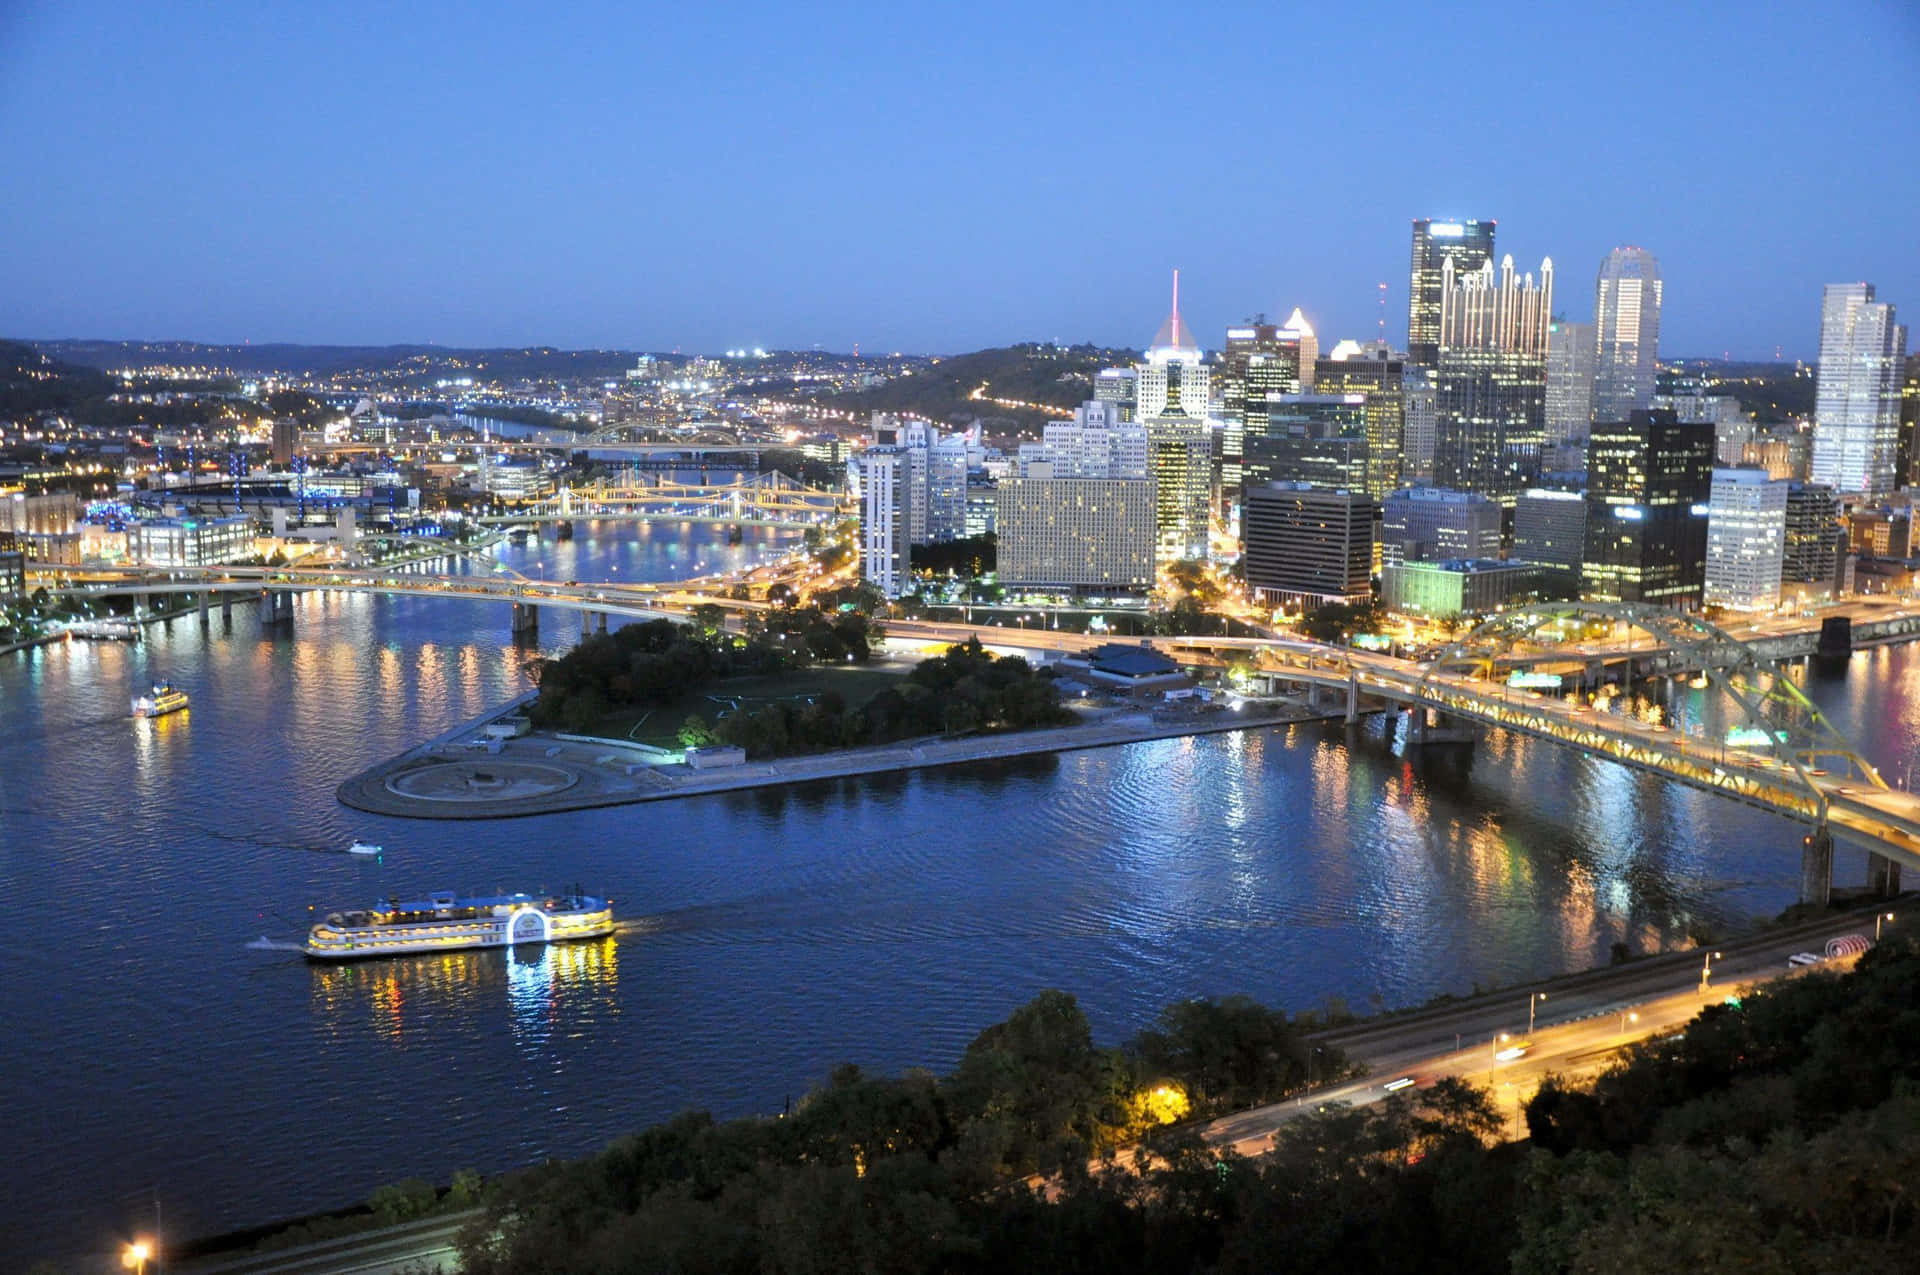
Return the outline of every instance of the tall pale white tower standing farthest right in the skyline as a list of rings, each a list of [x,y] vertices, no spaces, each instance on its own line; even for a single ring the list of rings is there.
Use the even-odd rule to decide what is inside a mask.
[[[1812,482],[1841,495],[1893,492],[1907,328],[1874,284],[1828,284],[1812,403]]]

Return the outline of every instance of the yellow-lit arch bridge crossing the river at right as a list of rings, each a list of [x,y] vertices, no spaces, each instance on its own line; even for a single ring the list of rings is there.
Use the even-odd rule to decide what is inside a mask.
[[[1609,695],[1596,703],[1542,693],[1536,686],[1549,680],[1524,676],[1555,666],[1584,674],[1609,653],[1617,659],[1622,628],[1651,639],[1630,645],[1630,659],[1665,664],[1668,686],[1703,676],[1732,730],[1693,735],[1659,712],[1613,710]],[[1812,851],[1839,837],[1920,868],[1920,799],[1889,787],[1778,664],[1699,616],[1636,603],[1540,603],[1488,620],[1425,664],[1309,641],[1246,649],[1258,678],[1344,691],[1350,718],[1367,701],[1405,707],[1409,741],[1434,716],[1500,726],[1809,824]]]

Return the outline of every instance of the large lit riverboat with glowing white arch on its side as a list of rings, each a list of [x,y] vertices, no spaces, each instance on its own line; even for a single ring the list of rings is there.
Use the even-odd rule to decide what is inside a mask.
[[[570,943],[612,933],[612,899],[591,895],[486,895],[424,901],[388,899],[371,908],[328,912],[307,931],[309,960],[365,960],[457,952],[470,947]]]

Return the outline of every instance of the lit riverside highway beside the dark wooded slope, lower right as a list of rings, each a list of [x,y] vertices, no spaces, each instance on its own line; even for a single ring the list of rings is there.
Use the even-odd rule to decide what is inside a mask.
[[[1365,1106],[1384,1098],[1384,1087],[1396,1079],[1430,1085],[1455,1075],[1488,1087],[1501,1118],[1509,1121],[1509,1135],[1524,1137],[1523,1108],[1549,1073],[1571,1079],[1597,1075],[1622,1046],[1680,1031],[1703,1006],[1755,983],[1786,977],[1788,956],[1820,954],[1826,941],[1839,935],[1872,937],[1874,916],[1876,912],[1837,914],[1722,945],[1715,949],[1718,958],[1711,962],[1705,991],[1705,952],[1674,952],[1327,1031],[1313,1039],[1336,1045],[1348,1052],[1350,1062],[1363,1064],[1363,1079],[1221,1116],[1202,1133],[1215,1146],[1254,1156],[1271,1146],[1275,1131],[1319,1106]],[[1885,922],[1885,933],[1893,933],[1899,924],[1899,918]],[[1834,960],[1816,968],[1845,964]],[[1538,993],[1546,993],[1546,998],[1532,1000],[1534,1027],[1528,1033],[1528,1002]],[[1526,1052],[1519,1058],[1496,1058],[1498,1050],[1513,1046],[1524,1046]]]

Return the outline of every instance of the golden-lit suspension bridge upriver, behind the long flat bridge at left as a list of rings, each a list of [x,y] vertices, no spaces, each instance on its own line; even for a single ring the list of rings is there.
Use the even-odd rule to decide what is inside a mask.
[[[622,474],[614,482],[597,480],[561,488],[555,495],[526,501],[509,515],[482,522],[555,522],[570,518],[637,518],[674,522],[755,522],[776,528],[804,528],[833,522],[849,513],[845,492],[810,488],[781,472],[753,474],[730,484],[641,482]]]

